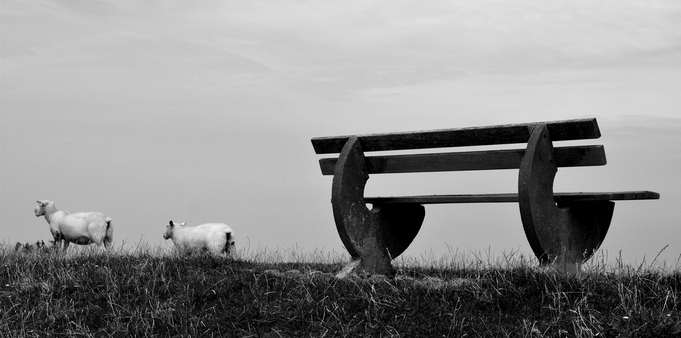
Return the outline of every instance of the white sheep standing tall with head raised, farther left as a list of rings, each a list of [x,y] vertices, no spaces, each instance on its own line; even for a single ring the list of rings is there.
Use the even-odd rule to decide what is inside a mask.
[[[69,243],[91,244],[95,243],[104,251],[109,249],[114,240],[114,228],[111,218],[100,212],[64,212],[57,210],[52,201],[37,201],[35,216],[45,215],[45,220],[50,224],[50,232],[54,237],[54,246],[61,247],[64,241],[64,250]],[[104,244],[104,248],[102,245]]]

